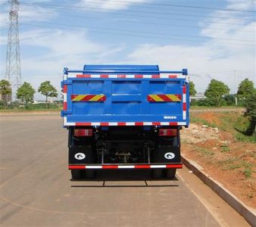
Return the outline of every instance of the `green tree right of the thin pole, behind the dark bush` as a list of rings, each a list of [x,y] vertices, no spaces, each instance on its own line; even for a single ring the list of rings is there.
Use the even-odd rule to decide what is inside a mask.
[[[245,104],[246,99],[251,97],[251,94],[254,92],[254,84],[248,78],[244,79],[239,84],[239,89],[237,91],[237,98],[239,101],[242,101],[242,104]]]

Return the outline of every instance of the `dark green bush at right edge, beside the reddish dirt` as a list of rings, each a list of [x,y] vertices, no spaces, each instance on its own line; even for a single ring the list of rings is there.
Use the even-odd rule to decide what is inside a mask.
[[[246,99],[245,102],[245,117],[248,117],[250,126],[248,127],[246,134],[252,135],[256,138],[256,89]]]

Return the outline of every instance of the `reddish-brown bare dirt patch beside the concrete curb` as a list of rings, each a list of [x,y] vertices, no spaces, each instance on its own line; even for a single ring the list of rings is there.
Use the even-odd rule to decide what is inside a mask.
[[[211,114],[206,115],[204,117],[211,117],[214,124],[219,123]],[[245,204],[256,208],[254,143],[236,141],[229,132],[194,123],[189,129],[183,129],[181,138],[182,153],[186,157],[202,166]]]

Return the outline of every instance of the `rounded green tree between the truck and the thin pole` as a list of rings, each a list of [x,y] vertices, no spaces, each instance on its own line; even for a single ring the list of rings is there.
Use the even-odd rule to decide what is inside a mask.
[[[217,79],[211,79],[204,95],[208,98],[211,105],[220,106],[223,104],[223,96],[229,95],[229,87]]]

